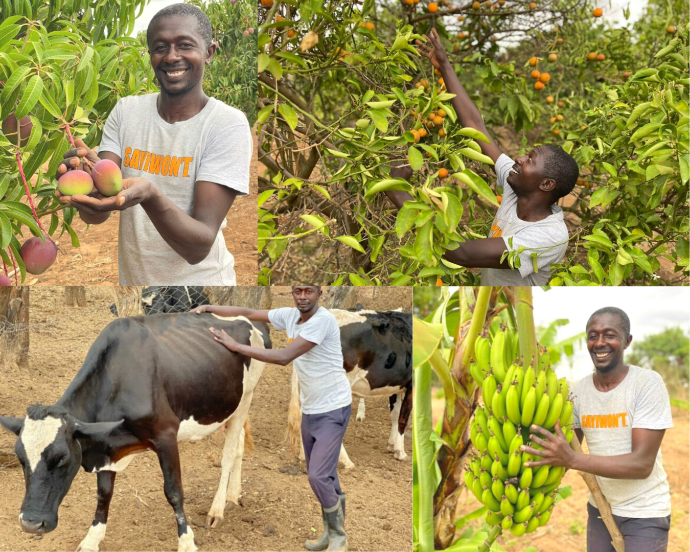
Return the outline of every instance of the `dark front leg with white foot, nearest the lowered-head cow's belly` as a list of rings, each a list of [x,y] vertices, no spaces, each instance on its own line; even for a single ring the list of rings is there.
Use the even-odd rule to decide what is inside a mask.
[[[177,552],[196,552],[194,532],[187,523],[184,514],[184,490],[182,489],[182,474],[179,466],[179,450],[177,449],[177,431],[166,432],[155,440],[158,461],[163,471],[163,490],[168,504],[175,511],[177,521]]]

